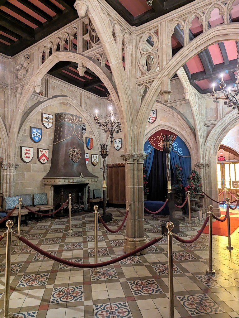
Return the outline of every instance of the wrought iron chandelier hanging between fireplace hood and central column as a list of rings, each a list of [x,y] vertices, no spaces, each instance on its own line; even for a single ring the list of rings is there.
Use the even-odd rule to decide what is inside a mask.
[[[103,130],[105,133],[108,133],[108,132],[110,133],[110,142],[112,144],[114,133],[118,134],[122,130],[121,130],[121,122],[117,121],[114,117],[113,107],[112,107],[112,103],[114,102],[114,100],[112,99],[111,96],[108,96],[107,101],[110,103],[110,114],[108,115],[109,116],[108,120],[100,122],[99,117],[97,115],[97,111],[96,111],[94,120],[96,121],[96,125],[98,125],[101,128],[101,130]]]

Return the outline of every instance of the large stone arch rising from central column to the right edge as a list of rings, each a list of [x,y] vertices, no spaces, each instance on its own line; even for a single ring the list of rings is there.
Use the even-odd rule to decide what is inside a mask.
[[[137,114],[136,135],[142,134],[142,127],[146,127],[147,114],[152,109],[159,93],[161,92],[161,84],[165,79],[171,79],[172,76],[196,54],[206,49],[209,45],[222,42],[225,40],[237,41],[239,39],[239,24],[224,24],[210,28],[206,32],[200,34],[194,40],[184,46],[178,53],[170,59],[169,63],[160,71],[150,86],[145,98],[143,99],[140,110]],[[142,144],[140,143],[142,142]],[[138,140],[138,146],[143,148],[143,138]]]

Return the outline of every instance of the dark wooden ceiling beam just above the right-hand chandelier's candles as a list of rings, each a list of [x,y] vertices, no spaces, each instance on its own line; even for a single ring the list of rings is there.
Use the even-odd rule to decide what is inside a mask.
[[[191,81],[195,82],[203,79],[220,79],[220,74],[225,72],[231,73],[236,71],[237,61],[236,59],[229,61],[229,65],[225,67],[224,63],[216,64],[212,74],[206,74],[205,71],[191,74]]]

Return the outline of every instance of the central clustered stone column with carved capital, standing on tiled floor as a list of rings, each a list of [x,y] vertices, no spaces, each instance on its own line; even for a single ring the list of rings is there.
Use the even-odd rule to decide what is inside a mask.
[[[126,207],[130,204],[124,252],[130,252],[146,242],[143,207],[143,161],[146,156],[144,152],[126,153],[121,156],[125,161]],[[146,253],[147,250],[141,252]]]

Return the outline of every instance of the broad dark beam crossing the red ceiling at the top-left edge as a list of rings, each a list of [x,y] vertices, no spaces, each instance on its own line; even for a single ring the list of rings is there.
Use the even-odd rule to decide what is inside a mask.
[[[34,30],[24,23],[21,23],[18,19],[10,16],[10,14],[0,10],[0,25],[7,29],[21,35],[23,38],[34,39]]]

